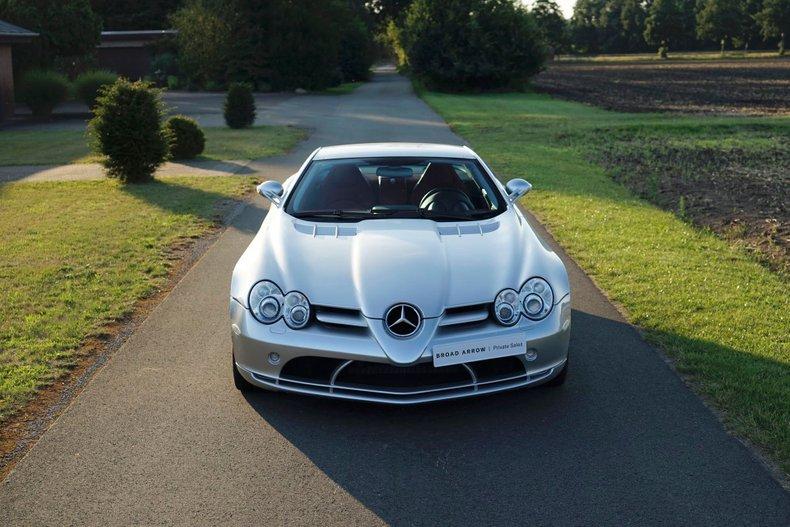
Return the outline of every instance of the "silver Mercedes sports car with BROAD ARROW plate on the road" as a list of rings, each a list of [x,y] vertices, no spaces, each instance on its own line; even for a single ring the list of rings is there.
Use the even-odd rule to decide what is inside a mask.
[[[233,271],[236,387],[394,404],[537,384],[568,370],[559,257],[467,147],[319,148]]]

